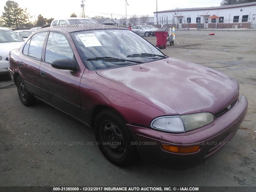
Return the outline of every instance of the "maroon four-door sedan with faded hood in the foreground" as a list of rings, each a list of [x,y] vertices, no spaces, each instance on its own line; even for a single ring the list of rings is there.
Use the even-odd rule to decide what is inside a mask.
[[[201,162],[234,136],[248,106],[234,79],[124,28],[38,30],[10,52],[9,71],[24,105],[40,99],[94,128],[119,166]]]

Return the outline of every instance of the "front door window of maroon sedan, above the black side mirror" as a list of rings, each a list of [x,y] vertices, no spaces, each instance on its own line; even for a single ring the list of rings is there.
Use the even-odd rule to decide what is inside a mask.
[[[50,32],[46,44],[45,61],[48,63],[57,59],[73,60],[74,54],[68,43],[68,40],[63,34]]]

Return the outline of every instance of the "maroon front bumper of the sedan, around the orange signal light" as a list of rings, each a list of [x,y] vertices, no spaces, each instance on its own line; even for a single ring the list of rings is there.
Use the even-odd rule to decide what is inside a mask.
[[[127,124],[140,157],[144,161],[173,167],[198,164],[206,160],[231,140],[246,116],[248,102],[245,96],[226,114],[211,124],[185,133],[159,132],[150,128]],[[172,146],[200,145],[200,150],[190,154],[177,154],[162,149],[161,144]],[[170,166],[169,166],[170,165]]]

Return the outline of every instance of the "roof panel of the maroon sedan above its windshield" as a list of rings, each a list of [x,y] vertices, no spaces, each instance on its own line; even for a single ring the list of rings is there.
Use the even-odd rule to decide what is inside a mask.
[[[84,27],[83,24],[78,25],[79,27],[47,27],[47,28],[41,28],[37,30],[35,33],[38,32],[43,32],[43,31],[67,31],[67,32],[76,32],[76,31],[88,31],[88,30],[100,30],[100,29],[122,29],[122,30],[128,30],[127,28],[124,27],[119,27],[119,26],[110,26],[110,25],[104,25],[104,24],[88,24],[88,26],[96,26],[96,27]]]

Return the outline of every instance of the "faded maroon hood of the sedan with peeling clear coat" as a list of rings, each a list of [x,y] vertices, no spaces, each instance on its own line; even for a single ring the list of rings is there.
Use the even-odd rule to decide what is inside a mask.
[[[144,102],[150,97],[178,114],[203,111],[215,114],[239,95],[237,82],[229,76],[173,58],[100,70],[97,74],[140,92],[146,96]]]

